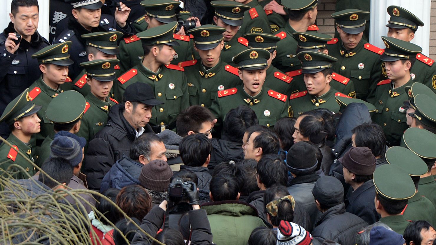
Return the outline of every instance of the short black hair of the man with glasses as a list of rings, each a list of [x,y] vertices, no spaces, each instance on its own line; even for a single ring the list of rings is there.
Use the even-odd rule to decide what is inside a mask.
[[[212,122],[214,119],[215,117],[208,108],[199,105],[187,107],[177,116],[177,134],[185,137],[189,131],[198,132],[201,129],[201,124]]]

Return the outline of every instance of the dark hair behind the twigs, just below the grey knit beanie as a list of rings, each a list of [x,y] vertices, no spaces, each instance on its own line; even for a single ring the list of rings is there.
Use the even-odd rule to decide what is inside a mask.
[[[71,165],[59,158],[48,158],[42,164],[41,169],[48,176],[54,179],[51,180],[42,172],[39,175],[38,180],[47,185],[49,188],[56,187],[59,185],[58,182],[68,185],[70,184],[71,178],[73,178],[73,168],[71,168]]]

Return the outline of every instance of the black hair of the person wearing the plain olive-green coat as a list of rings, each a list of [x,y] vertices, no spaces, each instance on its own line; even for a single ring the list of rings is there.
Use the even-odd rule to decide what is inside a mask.
[[[235,175],[220,174],[212,177],[211,194],[214,201],[236,201],[239,186]]]

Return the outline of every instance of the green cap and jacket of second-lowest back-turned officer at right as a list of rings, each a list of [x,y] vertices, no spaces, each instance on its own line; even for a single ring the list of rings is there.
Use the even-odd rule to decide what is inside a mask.
[[[415,181],[419,181],[419,176],[426,174],[428,171],[427,164],[407,148],[391,147],[386,151],[385,156],[388,164],[402,168]],[[409,198],[402,215],[407,220],[425,220],[432,225],[436,224],[434,205],[429,199],[423,197],[418,190],[416,190],[416,194],[412,198]]]

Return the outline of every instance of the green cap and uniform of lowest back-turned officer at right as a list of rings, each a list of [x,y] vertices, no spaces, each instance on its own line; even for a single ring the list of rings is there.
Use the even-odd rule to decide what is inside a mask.
[[[412,178],[402,168],[392,164],[384,164],[376,168],[372,181],[376,198],[384,198],[390,203],[403,201],[415,195],[416,189]],[[401,213],[382,217],[379,221],[399,234],[403,234],[407,225],[410,224]]]

